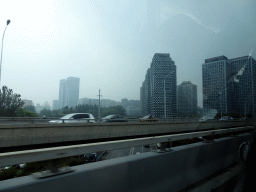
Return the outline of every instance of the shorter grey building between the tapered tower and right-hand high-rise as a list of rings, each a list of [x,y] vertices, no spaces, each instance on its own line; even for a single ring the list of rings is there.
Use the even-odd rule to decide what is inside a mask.
[[[188,116],[197,113],[197,86],[190,81],[178,85],[178,114]]]

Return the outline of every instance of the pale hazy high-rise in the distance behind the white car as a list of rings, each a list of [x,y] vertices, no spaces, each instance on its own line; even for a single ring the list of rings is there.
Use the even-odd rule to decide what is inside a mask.
[[[60,80],[59,89],[59,107],[75,107],[79,99],[80,79],[77,77],[68,77]]]

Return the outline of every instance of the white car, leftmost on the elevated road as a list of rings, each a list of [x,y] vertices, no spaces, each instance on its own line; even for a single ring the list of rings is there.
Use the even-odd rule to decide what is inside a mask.
[[[95,123],[95,118],[90,113],[71,113],[49,123]]]

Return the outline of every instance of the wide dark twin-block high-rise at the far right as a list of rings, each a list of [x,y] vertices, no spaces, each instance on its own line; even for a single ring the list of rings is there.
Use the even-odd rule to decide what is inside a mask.
[[[218,112],[255,115],[256,61],[251,56],[206,59],[203,64],[205,114]]]

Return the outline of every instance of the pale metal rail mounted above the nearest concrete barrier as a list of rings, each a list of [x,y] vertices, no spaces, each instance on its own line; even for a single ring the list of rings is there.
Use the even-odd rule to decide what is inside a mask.
[[[252,129],[253,127],[247,126],[247,127],[237,127],[237,128],[229,128],[229,129],[190,132],[190,133],[183,133],[183,134],[145,137],[145,138],[137,138],[137,139],[80,144],[80,145],[18,151],[18,152],[8,152],[8,153],[0,154],[0,165],[9,166],[9,165],[22,164],[22,163],[76,156],[76,155],[81,155],[86,153],[111,151],[111,150],[156,144],[156,143],[167,143],[167,142],[170,143],[172,141],[192,139],[196,137],[204,137],[204,136],[211,136],[211,135],[218,135],[218,134],[225,134],[225,133],[235,133],[240,131],[249,131]]]

